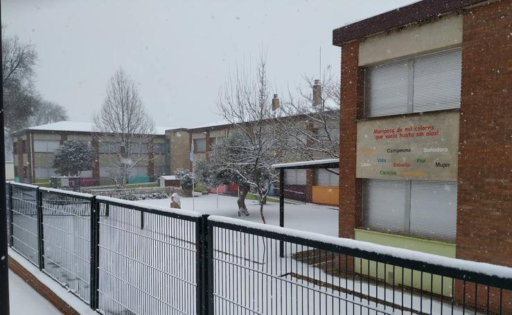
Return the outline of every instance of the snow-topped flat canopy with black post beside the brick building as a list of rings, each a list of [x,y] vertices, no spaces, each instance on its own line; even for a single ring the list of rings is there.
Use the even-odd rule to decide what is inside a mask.
[[[273,164],[272,168],[279,170],[279,226],[285,226],[285,170],[308,170],[315,168],[339,168],[339,159],[323,159],[292,163]],[[284,255],[283,242],[280,242],[279,252]]]

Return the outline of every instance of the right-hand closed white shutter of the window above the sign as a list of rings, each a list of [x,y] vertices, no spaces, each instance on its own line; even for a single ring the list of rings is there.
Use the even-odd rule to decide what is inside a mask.
[[[414,113],[461,107],[461,48],[414,58]]]

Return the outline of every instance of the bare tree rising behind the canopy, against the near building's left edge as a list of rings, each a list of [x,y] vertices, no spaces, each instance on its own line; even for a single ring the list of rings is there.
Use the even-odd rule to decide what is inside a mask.
[[[284,102],[283,111],[288,119],[281,120],[280,126],[289,133],[283,145],[291,154],[290,159],[338,159],[339,81],[333,78],[329,67],[321,80],[306,75],[303,78],[306,88],[290,91]]]

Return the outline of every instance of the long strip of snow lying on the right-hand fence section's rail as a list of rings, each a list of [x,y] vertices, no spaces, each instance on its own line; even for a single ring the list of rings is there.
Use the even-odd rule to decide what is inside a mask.
[[[337,246],[344,246],[349,249],[360,249],[362,251],[369,251],[383,255],[390,255],[395,258],[404,258],[409,260],[416,260],[418,262],[426,262],[428,264],[435,264],[441,267],[451,267],[461,269],[464,271],[482,273],[488,276],[497,276],[504,279],[512,279],[512,268],[499,266],[496,264],[488,264],[486,262],[473,262],[470,260],[461,260],[456,258],[448,258],[440,255],[430,253],[421,253],[419,251],[411,251],[409,249],[398,249],[396,247],[384,246],[373,244],[370,242],[362,242],[342,237],[333,237],[322,235],[318,233],[294,230],[292,228],[281,228],[280,226],[271,226],[268,224],[261,224],[256,222],[247,222],[241,219],[234,219],[231,217],[221,217],[218,215],[210,215],[209,220],[214,222],[222,222],[227,224],[234,224],[238,226],[246,226],[248,228],[256,228],[262,231],[269,231],[288,235],[291,237],[301,237],[306,240],[317,242],[324,242]]]

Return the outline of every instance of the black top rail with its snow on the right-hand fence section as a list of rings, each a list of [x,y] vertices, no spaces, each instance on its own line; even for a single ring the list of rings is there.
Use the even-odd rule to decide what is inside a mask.
[[[268,224],[260,224],[255,222],[247,222],[241,219],[234,219],[231,217],[221,217],[218,215],[210,215],[208,217],[209,224],[224,228],[231,228],[240,232],[254,233],[260,236],[267,236],[276,238],[276,240],[283,240],[285,242],[301,242],[306,246],[316,246],[325,244],[324,248],[331,250],[348,249],[352,253],[355,251],[364,255],[365,253],[370,260],[377,258],[380,262],[387,262],[393,264],[400,262],[405,268],[412,268],[419,266],[425,272],[429,270],[445,269],[452,273],[454,271],[463,271],[464,275],[471,274],[470,278],[488,278],[489,284],[499,282],[504,289],[512,290],[512,268],[504,267],[495,264],[488,264],[486,262],[474,262],[470,260],[461,260],[457,258],[448,258],[445,256],[434,255],[430,253],[421,253],[418,251],[411,251],[409,249],[398,249],[396,247],[384,246],[373,244],[370,242],[362,242],[342,237],[333,237],[329,235],[322,235],[319,233],[312,233],[306,231],[294,230],[292,228],[282,228],[280,226],[271,226]],[[259,232],[258,232],[259,231]],[[404,262],[408,262],[404,264]],[[467,280],[473,281],[470,278]]]

